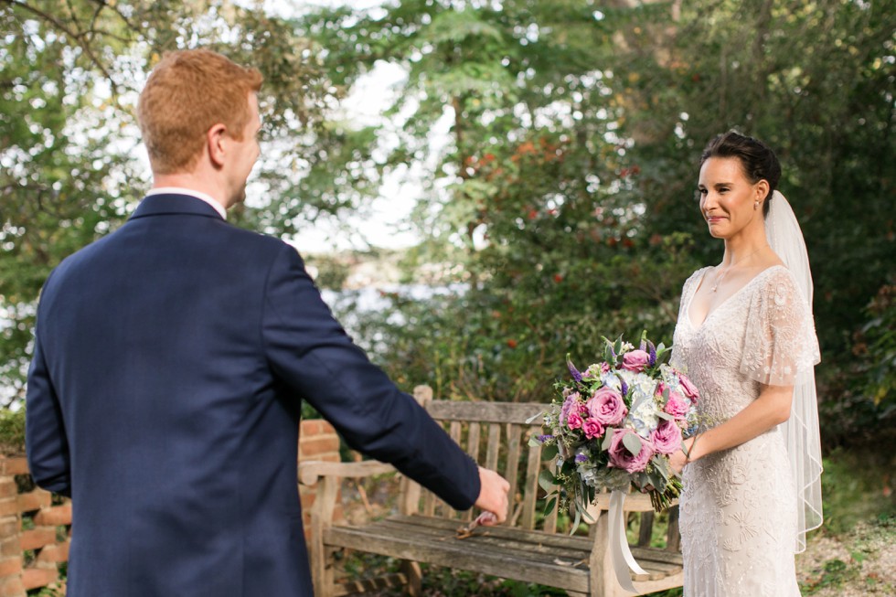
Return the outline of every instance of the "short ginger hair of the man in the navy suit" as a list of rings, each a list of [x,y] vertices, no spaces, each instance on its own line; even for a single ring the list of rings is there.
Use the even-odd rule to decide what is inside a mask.
[[[242,140],[250,117],[249,94],[261,89],[261,73],[207,49],[166,53],[137,104],[149,162],[155,174],[189,172],[205,135],[222,123]]]

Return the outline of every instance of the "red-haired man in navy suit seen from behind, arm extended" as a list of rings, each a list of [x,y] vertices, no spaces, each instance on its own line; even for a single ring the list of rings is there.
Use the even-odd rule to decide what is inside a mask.
[[[138,109],[153,190],[41,294],[27,453],[72,497],[69,597],[311,597],[302,400],[451,506],[507,516],[507,482],[370,364],[298,253],[227,223],[260,87],[219,54],[166,55]]]

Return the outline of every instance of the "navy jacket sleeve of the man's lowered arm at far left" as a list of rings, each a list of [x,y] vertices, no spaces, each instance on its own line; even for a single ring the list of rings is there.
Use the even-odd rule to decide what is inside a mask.
[[[40,325],[39,312],[37,325]],[[71,496],[68,435],[39,329],[35,332],[34,357],[28,369],[25,417],[28,466],[35,483],[48,491]]]

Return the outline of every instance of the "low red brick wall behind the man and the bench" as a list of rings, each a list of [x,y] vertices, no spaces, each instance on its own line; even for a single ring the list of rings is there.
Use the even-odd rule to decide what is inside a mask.
[[[330,423],[302,421],[299,460],[339,462],[339,436]],[[0,456],[0,597],[26,597],[46,586],[65,594],[57,581],[59,564],[69,560],[71,504],[29,485],[26,459]],[[299,496],[307,538],[315,490],[300,486]],[[335,516],[342,517],[341,508]]]

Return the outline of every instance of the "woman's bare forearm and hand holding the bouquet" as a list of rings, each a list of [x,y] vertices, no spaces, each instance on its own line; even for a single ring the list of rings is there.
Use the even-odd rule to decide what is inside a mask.
[[[749,442],[754,437],[772,429],[790,418],[793,386],[764,386],[756,400],[731,417],[728,421],[699,433],[684,442],[684,450],[672,454],[672,468],[680,473],[685,464],[699,460],[707,454],[727,450]],[[688,452],[686,454],[685,452]]]

